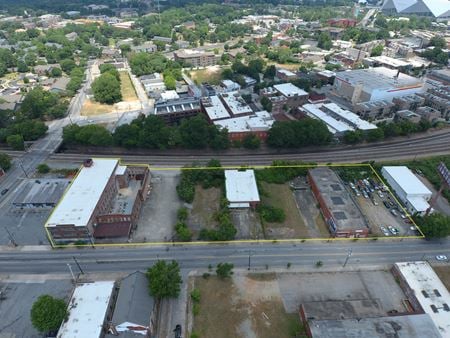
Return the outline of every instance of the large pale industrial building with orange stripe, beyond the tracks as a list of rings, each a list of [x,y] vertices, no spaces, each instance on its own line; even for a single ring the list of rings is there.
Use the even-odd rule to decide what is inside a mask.
[[[385,67],[356,69],[336,73],[335,94],[352,104],[368,101],[392,101],[394,97],[419,93],[420,79]]]

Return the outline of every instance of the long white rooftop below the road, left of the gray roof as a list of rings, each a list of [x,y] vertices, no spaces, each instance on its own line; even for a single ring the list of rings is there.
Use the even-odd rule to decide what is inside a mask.
[[[114,282],[80,284],[70,299],[68,319],[62,324],[57,338],[102,337]]]

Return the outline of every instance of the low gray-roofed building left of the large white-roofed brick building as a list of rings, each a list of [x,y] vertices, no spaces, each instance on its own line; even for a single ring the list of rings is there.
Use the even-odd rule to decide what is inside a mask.
[[[68,184],[66,179],[29,180],[19,188],[13,205],[20,209],[54,208]]]

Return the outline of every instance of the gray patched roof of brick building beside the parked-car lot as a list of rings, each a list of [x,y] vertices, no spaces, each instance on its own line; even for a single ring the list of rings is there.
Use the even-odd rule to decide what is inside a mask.
[[[333,214],[338,231],[368,228],[360,209],[333,170],[320,167],[310,169],[309,174],[317,185],[328,209]]]

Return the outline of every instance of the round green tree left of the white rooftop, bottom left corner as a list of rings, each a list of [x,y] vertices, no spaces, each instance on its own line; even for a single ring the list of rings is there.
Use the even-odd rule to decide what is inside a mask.
[[[66,302],[50,295],[40,296],[31,307],[31,323],[42,333],[58,330],[66,317]]]

